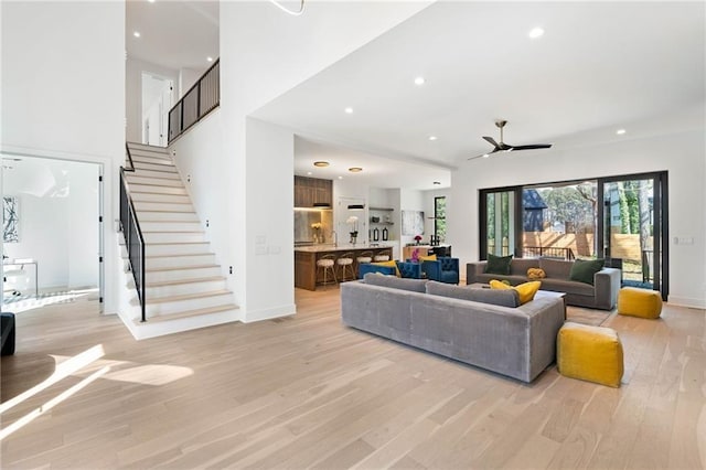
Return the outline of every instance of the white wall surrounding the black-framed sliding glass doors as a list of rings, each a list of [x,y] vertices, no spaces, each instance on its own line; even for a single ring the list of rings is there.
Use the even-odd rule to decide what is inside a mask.
[[[653,135],[575,149],[556,148],[534,156],[500,154],[468,162],[452,174],[448,211],[453,255],[477,260],[478,191],[527,183],[668,171],[670,302],[706,307],[706,190],[704,126],[699,130]],[[674,237],[693,237],[675,245]]]

